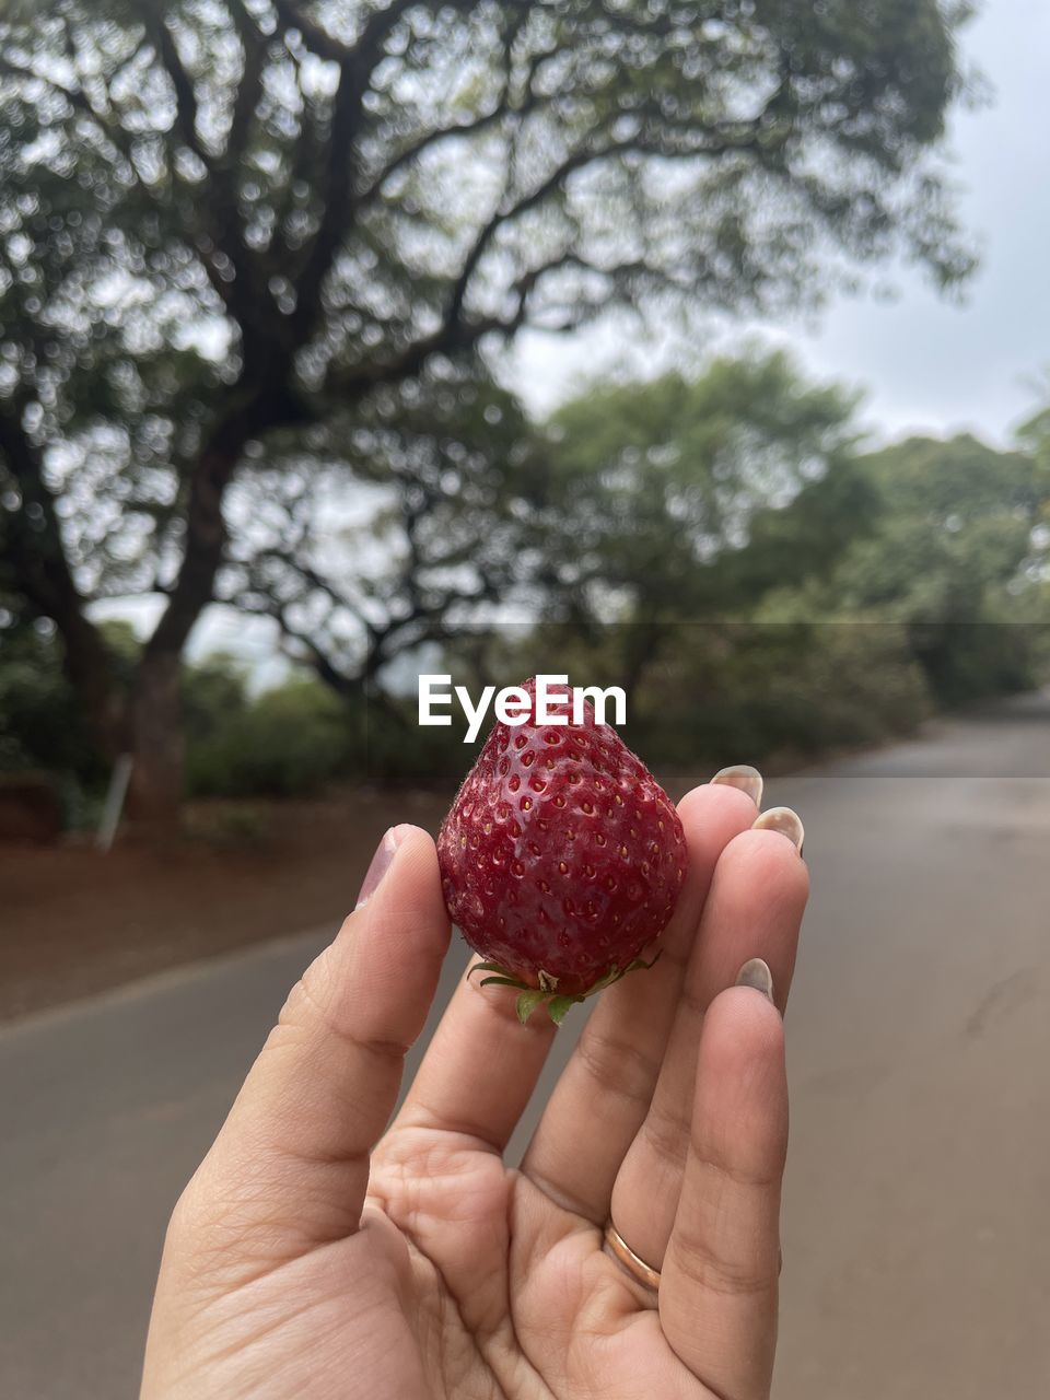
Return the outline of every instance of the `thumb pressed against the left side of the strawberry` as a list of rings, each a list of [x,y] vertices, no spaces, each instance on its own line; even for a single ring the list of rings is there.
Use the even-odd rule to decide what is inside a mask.
[[[370,1152],[448,948],[433,840],[412,826],[386,840],[389,868],[293,990],[186,1191],[190,1208],[217,1205],[225,1240],[262,1231],[274,1261],[358,1228]]]

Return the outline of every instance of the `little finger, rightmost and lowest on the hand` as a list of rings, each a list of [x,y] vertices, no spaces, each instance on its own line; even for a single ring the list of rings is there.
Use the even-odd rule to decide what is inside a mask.
[[[784,1028],[762,993],[736,987],[711,1004],[692,1120],[659,1284],[661,1324],[715,1394],[767,1400],[788,1109]]]

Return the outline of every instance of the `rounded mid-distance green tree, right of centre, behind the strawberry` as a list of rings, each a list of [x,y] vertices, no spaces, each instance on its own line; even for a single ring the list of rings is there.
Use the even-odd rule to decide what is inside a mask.
[[[542,577],[556,616],[609,630],[629,697],[673,633],[826,574],[865,528],[854,406],[777,351],[599,388],[554,414]]]

